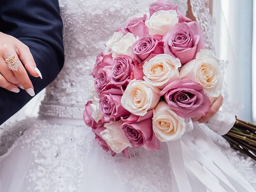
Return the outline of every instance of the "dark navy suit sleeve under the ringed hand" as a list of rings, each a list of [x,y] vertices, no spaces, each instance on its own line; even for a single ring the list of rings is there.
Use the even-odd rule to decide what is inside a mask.
[[[0,32],[26,44],[43,79],[29,76],[35,93],[51,83],[64,64],[58,0],[0,0]],[[24,90],[0,88],[0,125],[32,99]]]

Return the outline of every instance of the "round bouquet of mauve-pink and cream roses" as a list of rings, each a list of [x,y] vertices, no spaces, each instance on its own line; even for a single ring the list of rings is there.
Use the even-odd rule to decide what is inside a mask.
[[[84,121],[112,155],[179,140],[192,131],[191,118],[209,112],[209,98],[221,94],[219,60],[205,48],[198,23],[177,6],[153,3],[149,16],[128,20],[105,46]]]

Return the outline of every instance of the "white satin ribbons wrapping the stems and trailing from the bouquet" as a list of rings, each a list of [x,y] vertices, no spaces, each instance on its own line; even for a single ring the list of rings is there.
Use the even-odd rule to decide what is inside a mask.
[[[234,119],[235,116],[221,112],[209,122],[214,125],[214,131],[224,134],[232,128]],[[167,142],[179,192],[255,192],[204,133],[204,126],[206,125],[194,122],[193,130],[183,135],[180,140]]]

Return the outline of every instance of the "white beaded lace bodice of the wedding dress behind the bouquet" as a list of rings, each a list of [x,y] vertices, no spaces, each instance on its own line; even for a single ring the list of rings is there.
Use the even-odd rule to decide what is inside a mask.
[[[129,17],[147,13],[154,1],[59,0],[64,23],[65,64],[57,79],[47,87],[39,114],[81,119],[81,110],[84,103],[90,99],[88,93],[93,88],[90,74],[96,56],[104,50],[106,41],[114,31],[124,26]],[[178,9],[186,15],[187,0],[165,1],[178,5]],[[195,6],[198,8],[194,8],[197,10],[194,14],[201,18],[202,5],[197,3]],[[206,22],[204,19],[203,26],[207,26]],[[208,28],[203,28],[206,33]]]

